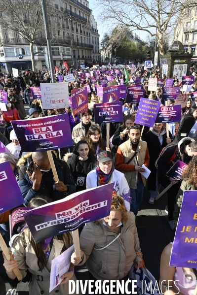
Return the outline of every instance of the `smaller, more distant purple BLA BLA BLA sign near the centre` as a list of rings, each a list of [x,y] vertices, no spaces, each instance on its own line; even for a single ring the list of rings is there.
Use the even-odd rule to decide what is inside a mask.
[[[97,124],[122,122],[122,102],[95,103],[94,120]]]

